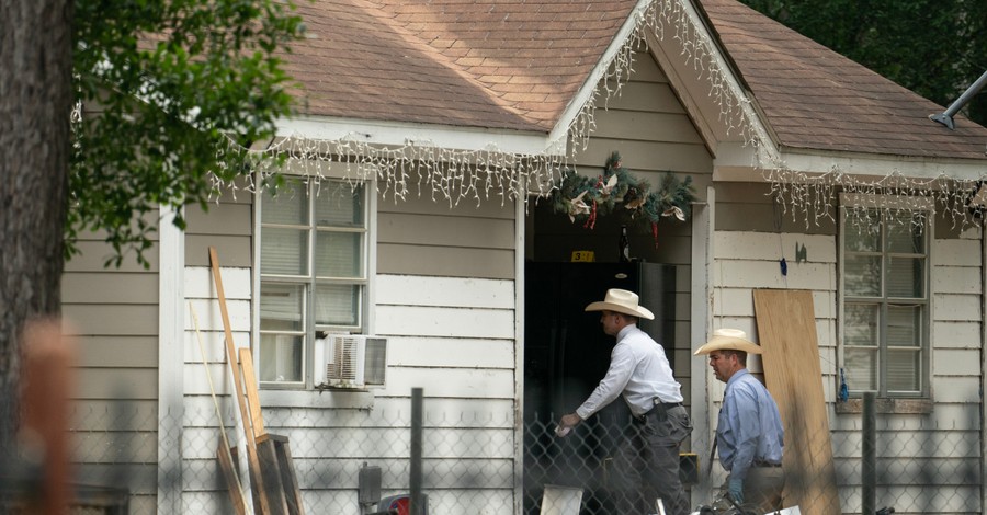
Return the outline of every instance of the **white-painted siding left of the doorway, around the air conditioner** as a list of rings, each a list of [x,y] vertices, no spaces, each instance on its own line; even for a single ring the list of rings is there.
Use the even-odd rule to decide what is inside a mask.
[[[250,271],[224,267],[222,273],[234,339],[238,346],[247,346]],[[212,389],[223,397],[217,414],[198,336],[189,317],[183,502],[223,506],[226,493],[216,483],[214,458],[219,417],[229,438],[237,442],[238,415],[228,397],[232,388],[211,272],[188,267],[185,282],[188,301],[198,317]],[[364,462],[384,468],[385,488],[406,491],[410,392],[423,388],[430,500],[434,496],[440,502],[445,495],[441,489],[455,490],[468,478],[476,478],[470,489],[486,492],[485,499],[497,497],[510,505],[513,501],[503,500],[513,496],[517,446],[513,282],[379,275],[372,287],[376,298],[374,332],[388,339],[387,386],[374,390],[372,410],[262,407],[268,431],[291,442],[306,503],[322,511],[326,506],[355,504],[356,476]],[[242,339],[237,341],[239,336]],[[198,494],[190,496],[191,492]]]

